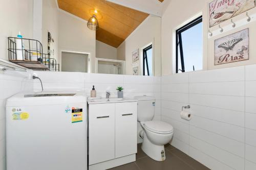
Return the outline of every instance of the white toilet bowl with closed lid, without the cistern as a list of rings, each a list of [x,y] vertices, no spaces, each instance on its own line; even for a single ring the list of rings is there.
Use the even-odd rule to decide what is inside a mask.
[[[164,144],[168,143],[173,137],[173,127],[161,121],[140,122],[142,131],[140,136],[143,138],[141,149],[147,156],[156,161],[165,160]]]

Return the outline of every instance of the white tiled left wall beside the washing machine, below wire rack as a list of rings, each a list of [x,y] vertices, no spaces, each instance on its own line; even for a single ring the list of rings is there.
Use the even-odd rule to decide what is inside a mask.
[[[6,169],[5,105],[10,96],[20,91],[32,91],[29,72],[0,71],[0,170]]]

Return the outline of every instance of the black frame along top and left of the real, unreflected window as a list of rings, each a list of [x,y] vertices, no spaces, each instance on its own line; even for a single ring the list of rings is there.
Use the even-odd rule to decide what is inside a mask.
[[[179,51],[180,51],[180,61],[181,61],[181,71],[185,72],[185,65],[184,65],[184,55],[183,55],[183,46],[182,46],[182,36],[181,33],[198,25],[199,23],[203,22],[203,16],[199,16],[193,21],[188,22],[183,27],[176,30],[176,73],[179,72]]]

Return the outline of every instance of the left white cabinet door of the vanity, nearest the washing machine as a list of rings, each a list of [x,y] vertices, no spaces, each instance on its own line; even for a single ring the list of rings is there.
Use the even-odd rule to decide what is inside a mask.
[[[89,165],[115,159],[115,104],[89,105]]]

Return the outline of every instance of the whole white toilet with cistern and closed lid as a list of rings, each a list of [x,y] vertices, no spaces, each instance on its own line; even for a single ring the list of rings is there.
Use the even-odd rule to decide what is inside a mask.
[[[135,96],[135,99],[138,100],[138,122],[143,128],[140,131],[143,138],[141,149],[152,159],[164,161],[164,144],[172,139],[173,127],[165,122],[152,120],[155,115],[154,96]]]

